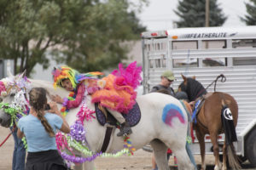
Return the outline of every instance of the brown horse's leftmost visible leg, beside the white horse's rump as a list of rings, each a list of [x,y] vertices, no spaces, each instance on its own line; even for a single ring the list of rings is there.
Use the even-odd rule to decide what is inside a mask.
[[[202,133],[200,127],[195,126],[195,134],[200,144],[201,152],[201,170],[206,169],[205,155],[206,155],[206,146],[205,146],[205,133]]]

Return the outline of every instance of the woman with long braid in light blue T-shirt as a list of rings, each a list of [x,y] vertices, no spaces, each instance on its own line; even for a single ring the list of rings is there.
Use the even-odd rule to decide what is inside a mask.
[[[19,138],[25,135],[27,141],[26,170],[67,169],[56,148],[55,132],[59,129],[69,133],[70,128],[55,102],[50,102],[50,110],[45,112],[46,94],[44,88],[32,88],[29,93],[30,113],[18,122],[17,135]]]

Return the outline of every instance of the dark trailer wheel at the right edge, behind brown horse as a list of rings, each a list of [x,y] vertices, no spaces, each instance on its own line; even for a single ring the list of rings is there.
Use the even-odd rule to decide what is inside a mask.
[[[253,129],[245,142],[246,157],[253,167],[256,167],[256,129]]]

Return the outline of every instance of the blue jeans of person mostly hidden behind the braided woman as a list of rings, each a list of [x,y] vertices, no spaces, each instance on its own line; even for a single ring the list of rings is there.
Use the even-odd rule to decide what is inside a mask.
[[[26,149],[24,148],[23,142],[17,136],[17,127],[13,132],[13,137],[15,139],[15,150],[13,155],[13,169],[12,170],[24,170],[25,169],[25,159],[26,159]],[[12,127],[11,127],[12,130]]]

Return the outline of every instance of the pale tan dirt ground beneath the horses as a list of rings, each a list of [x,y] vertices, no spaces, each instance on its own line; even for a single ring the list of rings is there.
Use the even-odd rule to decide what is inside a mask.
[[[9,128],[0,127],[0,143],[10,133]],[[9,170],[12,166],[12,156],[14,150],[14,139],[12,136],[0,147],[0,170]],[[196,161],[200,159],[195,156]],[[173,156],[170,158],[169,165],[173,165]],[[213,164],[212,158],[207,158],[207,163]],[[120,156],[117,158],[97,158],[96,170],[141,170],[151,168],[151,153],[144,150],[137,150],[134,156]]]

